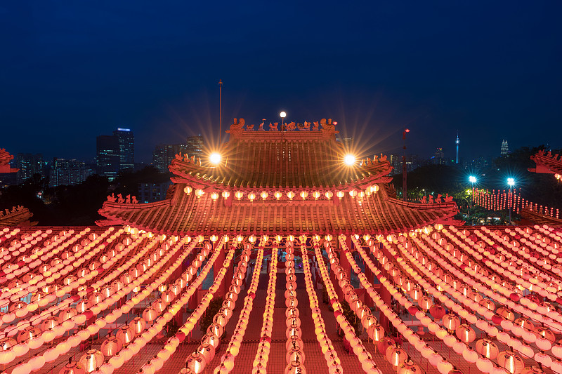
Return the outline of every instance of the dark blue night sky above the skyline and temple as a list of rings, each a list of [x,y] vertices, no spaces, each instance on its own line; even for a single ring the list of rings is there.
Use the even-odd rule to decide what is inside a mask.
[[[559,1],[8,1],[0,147],[90,160],[129,127],[157,143],[332,117],[360,146],[453,157],[562,147]],[[305,3],[305,2],[303,2]]]

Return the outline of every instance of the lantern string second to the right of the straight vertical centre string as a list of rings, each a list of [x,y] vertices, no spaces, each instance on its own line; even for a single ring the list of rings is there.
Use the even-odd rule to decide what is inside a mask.
[[[330,251],[331,246],[329,246],[329,242],[327,242],[327,244],[328,246],[326,248],[326,251]],[[313,246],[316,258],[322,258],[320,246],[318,245],[318,241],[315,238],[313,239]],[[361,367],[367,373],[381,374],[381,371],[379,370],[379,368],[377,368],[377,364],[374,363],[371,354],[367,352],[367,349],[365,349],[365,346],[363,345],[361,340],[357,337],[357,335],[355,335],[355,330],[344,316],[344,309],[342,309],[338,301],[338,297],[336,291],[334,290],[332,281],[330,281],[329,279],[325,263],[323,261],[319,261],[318,265],[320,267],[320,275],[322,276],[322,281],[324,281],[328,292],[328,297],[332,302],[332,308],[334,309],[334,316],[336,317],[336,321],[340,328],[344,330],[345,338],[346,340],[348,340],[348,342],[350,342],[353,353],[358,357],[361,363]],[[335,269],[336,270],[334,271],[334,273],[336,275],[336,279],[342,279],[345,275],[343,273],[343,269],[341,269],[339,265],[335,267]]]

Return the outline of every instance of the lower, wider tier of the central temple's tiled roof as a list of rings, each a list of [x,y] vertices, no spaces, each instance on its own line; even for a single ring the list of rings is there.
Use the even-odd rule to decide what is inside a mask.
[[[110,222],[168,234],[287,234],[396,232],[445,221],[457,213],[454,202],[421,204],[394,199],[386,187],[362,201],[346,194],[341,201],[213,201],[197,198],[176,185],[174,196],[158,203],[106,201],[100,214]]]

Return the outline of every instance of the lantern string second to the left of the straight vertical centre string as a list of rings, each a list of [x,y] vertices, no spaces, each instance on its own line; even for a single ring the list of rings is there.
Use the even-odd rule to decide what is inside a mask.
[[[226,374],[234,368],[234,361],[240,352],[240,345],[242,345],[242,339],[244,338],[244,333],[246,333],[246,328],[248,326],[248,318],[252,307],[254,307],[254,298],[256,297],[256,290],[258,289],[259,275],[261,272],[261,265],[263,262],[263,246],[265,242],[262,238],[258,246],[258,251],[256,254],[256,265],[254,267],[254,272],[251,274],[251,282],[247,291],[247,296],[244,298],[244,306],[240,311],[240,317],[238,318],[238,323],[234,330],[233,336],[228,342],[226,347],[226,352],[221,356],[221,362],[214,369],[214,373]]]

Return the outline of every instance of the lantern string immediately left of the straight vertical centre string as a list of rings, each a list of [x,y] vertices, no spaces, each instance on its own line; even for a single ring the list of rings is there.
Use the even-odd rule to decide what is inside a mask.
[[[289,248],[287,248],[288,251]],[[256,265],[257,266],[257,265]],[[293,269],[294,270],[294,269]],[[287,271],[287,268],[285,269]],[[271,263],[269,269],[268,288],[266,295],[266,307],[263,311],[263,323],[261,325],[260,339],[254,362],[252,363],[252,374],[267,373],[269,352],[271,349],[271,331],[273,329],[273,307],[275,306],[275,284],[277,282],[277,242],[271,249]]]

